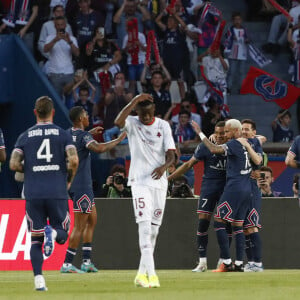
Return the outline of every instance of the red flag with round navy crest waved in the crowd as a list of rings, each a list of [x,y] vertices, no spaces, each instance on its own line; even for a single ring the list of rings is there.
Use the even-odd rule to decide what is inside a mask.
[[[300,88],[266,71],[250,67],[243,80],[241,94],[258,95],[266,102],[275,102],[281,108],[288,109],[300,97]]]

